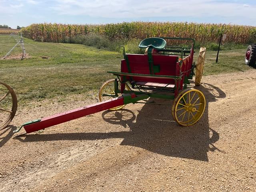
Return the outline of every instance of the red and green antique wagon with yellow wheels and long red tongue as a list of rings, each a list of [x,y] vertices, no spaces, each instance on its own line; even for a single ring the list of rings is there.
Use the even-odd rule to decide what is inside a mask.
[[[191,42],[191,46],[169,45],[178,41]],[[204,65],[205,48],[200,49],[197,64],[193,62],[194,44],[192,38],[146,38],[139,45],[145,54],[126,54],[123,47],[121,71],[108,71],[116,78],[101,86],[99,103],[27,122],[14,132],[24,127],[30,133],[103,110],[121,110],[150,97],[174,100],[170,109],[174,120],[182,126],[193,125],[206,106],[204,94],[188,88],[194,68],[195,84],[200,85]]]

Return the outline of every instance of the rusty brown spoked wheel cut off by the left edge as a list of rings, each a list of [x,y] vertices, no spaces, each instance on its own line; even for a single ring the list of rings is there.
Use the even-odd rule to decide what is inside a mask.
[[[15,116],[18,102],[14,90],[0,82],[0,130],[8,126]]]

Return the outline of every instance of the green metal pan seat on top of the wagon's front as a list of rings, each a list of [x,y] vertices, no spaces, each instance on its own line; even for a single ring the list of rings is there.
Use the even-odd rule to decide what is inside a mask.
[[[166,46],[166,40],[158,37],[146,38],[139,44],[139,48],[152,47],[157,50],[162,50]]]

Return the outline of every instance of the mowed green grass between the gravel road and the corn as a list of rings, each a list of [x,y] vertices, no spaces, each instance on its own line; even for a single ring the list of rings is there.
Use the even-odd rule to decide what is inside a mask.
[[[19,104],[28,100],[61,98],[73,94],[96,98],[100,86],[111,78],[106,71],[120,71],[121,53],[100,50],[80,44],[34,42],[24,38],[24,60],[0,60],[0,81],[12,86]],[[16,44],[8,35],[0,35],[0,56],[4,56]],[[219,63],[217,52],[206,52],[204,75],[248,70],[244,64],[246,49],[221,51]],[[21,48],[12,54],[21,53]],[[44,59],[42,57],[48,57]],[[198,50],[194,61],[197,62]]]

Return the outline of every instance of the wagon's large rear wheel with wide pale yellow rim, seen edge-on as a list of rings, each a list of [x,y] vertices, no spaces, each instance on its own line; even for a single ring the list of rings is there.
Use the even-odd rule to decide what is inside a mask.
[[[206,48],[201,47],[199,51],[198,61],[196,64],[196,78],[195,78],[196,86],[199,86],[201,84],[201,79],[202,79],[203,69],[204,69],[205,52],[206,52]]]

